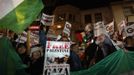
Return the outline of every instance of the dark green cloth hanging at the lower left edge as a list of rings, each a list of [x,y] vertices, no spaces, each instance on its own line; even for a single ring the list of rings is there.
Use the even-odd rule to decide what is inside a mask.
[[[19,55],[7,37],[0,38],[0,75],[27,75]]]

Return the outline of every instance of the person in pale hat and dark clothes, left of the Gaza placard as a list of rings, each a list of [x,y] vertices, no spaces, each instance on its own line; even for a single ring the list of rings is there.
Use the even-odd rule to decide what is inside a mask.
[[[34,46],[31,48],[30,53],[30,67],[29,67],[29,73],[30,75],[42,75],[43,73],[43,52],[42,47],[40,46]]]

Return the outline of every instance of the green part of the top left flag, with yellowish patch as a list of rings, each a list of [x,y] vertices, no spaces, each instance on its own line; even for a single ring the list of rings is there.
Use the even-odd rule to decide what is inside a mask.
[[[6,9],[6,7],[1,8]],[[24,0],[0,19],[0,29],[9,29],[21,33],[37,18],[42,8],[43,3],[41,0]]]

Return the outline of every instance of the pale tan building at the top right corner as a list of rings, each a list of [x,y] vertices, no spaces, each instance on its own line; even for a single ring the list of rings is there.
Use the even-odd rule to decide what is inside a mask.
[[[118,24],[122,20],[134,22],[134,1],[124,0],[111,3],[112,13],[118,29]]]

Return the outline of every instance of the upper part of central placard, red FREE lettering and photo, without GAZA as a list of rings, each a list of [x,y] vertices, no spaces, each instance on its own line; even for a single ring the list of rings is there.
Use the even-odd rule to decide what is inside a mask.
[[[70,42],[47,41],[45,64],[67,64]]]

